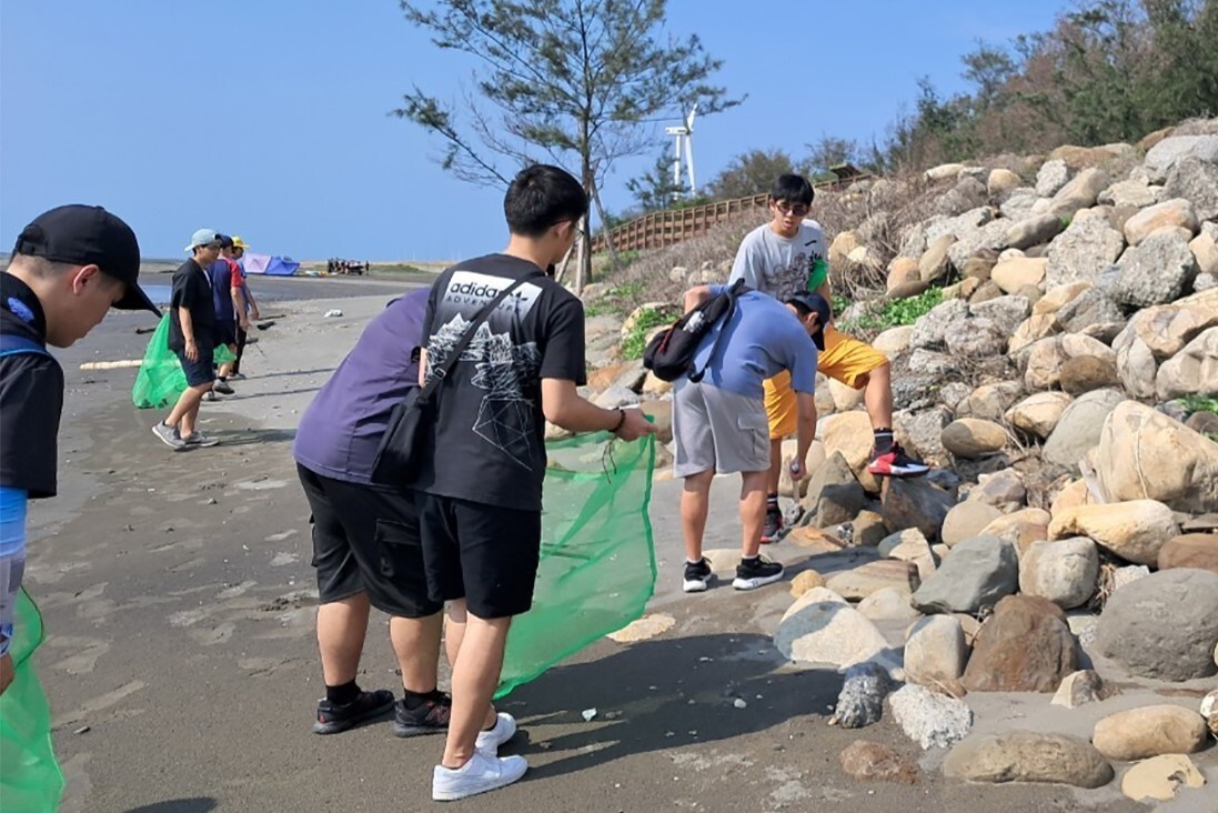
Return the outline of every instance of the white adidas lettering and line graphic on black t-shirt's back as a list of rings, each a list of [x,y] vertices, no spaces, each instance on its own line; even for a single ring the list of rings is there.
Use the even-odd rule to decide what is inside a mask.
[[[477,312],[512,282],[503,277],[466,271],[458,271],[452,275],[438,304],[437,314],[453,310],[457,312],[430,336],[429,380],[432,371],[441,367],[452,353]],[[536,435],[535,405],[532,399],[525,396],[524,382],[536,380],[541,369],[541,351],[532,341],[514,344],[512,325],[529,314],[540,296],[541,288],[531,283],[516,288],[479,325],[473,341],[460,356],[460,361],[474,364],[470,383],[487,391],[471,427],[474,434],[530,472],[530,451]]]

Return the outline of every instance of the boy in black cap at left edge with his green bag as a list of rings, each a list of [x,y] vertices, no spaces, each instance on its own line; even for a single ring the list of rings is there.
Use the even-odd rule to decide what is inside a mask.
[[[63,369],[46,350],[111,307],[151,311],[135,233],[100,206],[60,206],[22,229],[0,274],[0,806],[54,811],[63,775],[30,656],[41,619],[22,588],[29,500],[55,496]]]

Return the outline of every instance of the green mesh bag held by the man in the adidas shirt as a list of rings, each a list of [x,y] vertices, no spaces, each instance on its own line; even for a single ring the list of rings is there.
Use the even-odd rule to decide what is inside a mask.
[[[546,451],[532,609],[512,623],[496,697],[635,620],[655,592],[654,438],[626,444],[599,433]]]

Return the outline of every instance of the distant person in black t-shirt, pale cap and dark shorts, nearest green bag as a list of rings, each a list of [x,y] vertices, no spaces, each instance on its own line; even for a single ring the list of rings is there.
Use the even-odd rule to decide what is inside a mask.
[[[214,446],[216,438],[199,430],[199,407],[216,380],[216,302],[206,268],[220,256],[220,235],[199,229],[185,247],[190,258],[173,272],[169,295],[169,350],[178,355],[186,374],[186,389],[169,416],[152,427],[152,434],[174,451]]]

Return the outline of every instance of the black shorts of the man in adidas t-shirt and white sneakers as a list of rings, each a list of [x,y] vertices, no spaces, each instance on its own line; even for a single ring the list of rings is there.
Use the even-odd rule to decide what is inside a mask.
[[[465,598],[479,618],[529,612],[541,553],[541,512],[415,494],[428,592]]]

